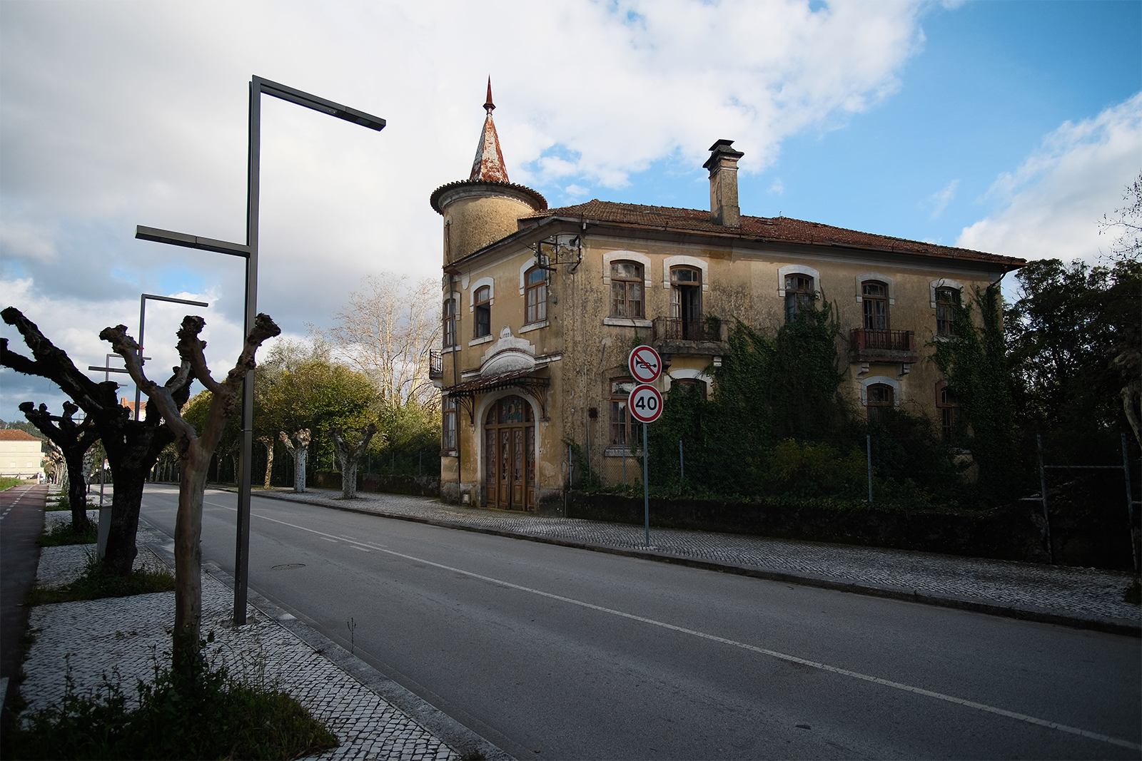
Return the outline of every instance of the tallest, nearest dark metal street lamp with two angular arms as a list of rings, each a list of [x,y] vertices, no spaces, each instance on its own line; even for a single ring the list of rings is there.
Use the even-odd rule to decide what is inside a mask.
[[[259,204],[259,170],[262,165],[262,94],[272,95],[281,100],[288,100],[313,111],[320,111],[337,119],[360,124],[371,130],[385,128],[385,120],[372,116],[363,111],[343,106],[332,100],[296,90],[260,76],[250,78],[250,122],[249,152],[247,161],[247,203],[246,203],[246,244],[217,241],[208,237],[186,235],[158,229],[155,227],[137,226],[135,237],[144,241],[156,241],[187,249],[215,251],[246,258],[246,321],[242,338],[250,334],[254,318],[257,316],[258,301],[258,204]],[[238,485],[238,535],[234,549],[234,625],[246,623],[247,583],[249,581],[250,549],[250,480],[254,454],[254,371],[246,374],[242,381],[242,453],[241,476]]]

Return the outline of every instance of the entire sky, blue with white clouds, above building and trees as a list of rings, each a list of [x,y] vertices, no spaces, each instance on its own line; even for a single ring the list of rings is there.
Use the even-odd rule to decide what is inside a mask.
[[[1142,171],[1142,2],[8,0],[0,301],[87,365],[140,292],[206,300],[220,372],[240,262],[132,235],[242,240],[251,74],[388,120],[264,100],[259,307],[295,338],[368,275],[439,278],[427,199],[467,176],[489,74],[512,179],[553,205],[705,208],[730,138],[743,213],[1094,262]],[[148,307],[148,339],[182,314]],[[61,397],[0,371],[0,418],[25,399]]]

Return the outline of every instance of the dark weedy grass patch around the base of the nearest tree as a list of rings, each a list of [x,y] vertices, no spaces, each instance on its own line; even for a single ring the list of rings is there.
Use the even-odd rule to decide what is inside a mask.
[[[23,717],[3,732],[6,759],[297,759],[336,747],[337,736],[276,685],[233,678],[203,664],[194,678],[155,665],[128,709],[106,677],[87,695],[71,675],[59,706]]]

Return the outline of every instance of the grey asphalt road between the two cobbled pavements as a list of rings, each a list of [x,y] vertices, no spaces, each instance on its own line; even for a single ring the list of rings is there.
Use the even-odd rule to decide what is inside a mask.
[[[148,487],[170,533],[177,493]],[[203,557],[233,572],[236,497]],[[254,497],[250,585],[517,759],[1132,758],[1134,638]]]

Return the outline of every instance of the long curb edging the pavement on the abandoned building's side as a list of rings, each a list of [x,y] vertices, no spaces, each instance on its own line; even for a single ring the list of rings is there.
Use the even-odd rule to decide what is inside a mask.
[[[236,489],[232,488],[222,488],[222,487],[212,487],[212,488],[218,488],[219,491],[225,491],[225,492],[236,492]],[[385,512],[383,510],[367,510],[363,508],[352,508],[348,505],[339,505],[339,504],[332,505],[332,504],[327,504],[325,502],[319,502],[316,500],[279,496],[273,492],[259,492],[257,493],[257,496],[264,496],[271,500],[279,500],[281,502],[300,502],[303,504],[309,504],[317,508],[327,508],[330,510],[341,510],[345,512],[356,512],[365,516],[377,516],[378,518],[408,520],[410,523],[427,524],[429,526],[439,526],[441,528],[453,528],[459,531],[472,532],[475,534],[489,534],[492,536],[504,536],[507,539],[525,540],[529,542],[539,542],[541,544],[554,544],[556,547],[566,547],[577,550],[589,550],[592,552],[603,552],[606,554],[617,554],[627,558],[641,558],[644,560],[668,562],[673,565],[685,566],[689,568],[717,570],[719,573],[737,574],[740,576],[751,576],[754,578],[765,578],[769,581],[786,582],[788,584],[799,584],[802,586],[815,586],[818,589],[829,589],[839,592],[852,592],[854,594],[866,594],[868,597],[880,597],[892,600],[906,600],[909,602],[920,602],[923,605],[932,605],[941,608],[954,608],[957,610],[983,613],[987,615],[1000,616],[1004,618],[1016,618],[1019,621],[1034,621],[1036,623],[1055,624],[1059,626],[1068,626],[1071,629],[1086,629],[1091,631],[1105,632],[1108,634],[1121,634],[1125,637],[1142,638],[1142,624],[1126,618],[1087,618],[1083,616],[1071,616],[1064,613],[1053,612],[1048,608],[1035,608],[1031,606],[984,602],[971,598],[931,594],[926,592],[919,592],[915,589],[909,590],[906,588],[888,586],[880,584],[861,584],[858,582],[849,582],[849,581],[828,578],[822,576],[812,576],[810,574],[796,574],[796,573],[790,573],[788,570],[777,570],[773,568],[764,568],[759,566],[737,566],[725,562],[715,562],[713,560],[699,560],[697,558],[685,558],[676,554],[653,552],[650,550],[606,547],[602,544],[589,544],[586,542],[574,542],[570,540],[554,539],[550,536],[533,536],[531,534],[520,534],[516,532],[508,532],[499,528],[483,528],[480,526],[467,526],[450,520],[441,520],[439,518],[421,518],[418,516],[405,516],[405,515]]]

